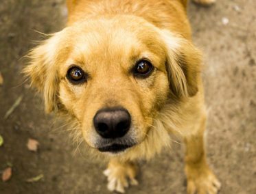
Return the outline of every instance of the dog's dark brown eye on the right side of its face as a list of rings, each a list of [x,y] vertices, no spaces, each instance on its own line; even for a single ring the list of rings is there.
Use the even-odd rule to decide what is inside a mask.
[[[140,60],[137,62],[134,68],[134,74],[137,77],[148,77],[150,75],[150,72],[153,70],[153,66],[150,63],[150,61],[147,60]]]

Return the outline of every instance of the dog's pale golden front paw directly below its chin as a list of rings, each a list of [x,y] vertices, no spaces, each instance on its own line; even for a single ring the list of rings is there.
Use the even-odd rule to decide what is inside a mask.
[[[137,185],[135,179],[137,167],[132,162],[121,162],[118,159],[111,159],[108,168],[104,171],[104,175],[108,178],[108,190],[124,193],[125,187],[129,183]]]

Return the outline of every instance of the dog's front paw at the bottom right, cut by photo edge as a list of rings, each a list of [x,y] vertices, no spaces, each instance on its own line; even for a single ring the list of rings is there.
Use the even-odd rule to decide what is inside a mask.
[[[186,169],[188,194],[216,194],[220,190],[220,182],[210,169]]]

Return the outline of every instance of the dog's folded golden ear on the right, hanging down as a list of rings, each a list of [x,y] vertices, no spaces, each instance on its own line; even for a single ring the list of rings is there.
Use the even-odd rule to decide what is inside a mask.
[[[170,89],[176,97],[194,96],[200,81],[201,53],[189,40],[161,31],[166,49],[166,70]]]

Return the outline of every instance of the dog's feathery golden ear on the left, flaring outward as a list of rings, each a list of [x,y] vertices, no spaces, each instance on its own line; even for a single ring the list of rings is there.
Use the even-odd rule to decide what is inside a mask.
[[[31,85],[42,93],[45,99],[45,111],[50,113],[57,107],[58,76],[56,70],[56,41],[54,37],[45,40],[27,55],[30,64],[23,72],[31,79]]]

